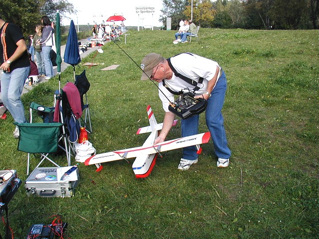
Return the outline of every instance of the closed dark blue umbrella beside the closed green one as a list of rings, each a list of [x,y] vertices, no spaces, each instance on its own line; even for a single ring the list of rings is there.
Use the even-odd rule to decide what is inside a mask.
[[[75,66],[81,62],[78,36],[73,20],[70,23],[69,35],[64,51],[64,62],[73,66],[74,80],[75,80]]]

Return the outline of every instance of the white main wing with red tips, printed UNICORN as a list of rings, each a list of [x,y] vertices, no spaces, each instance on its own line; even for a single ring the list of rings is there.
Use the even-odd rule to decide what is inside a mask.
[[[85,160],[85,165],[110,162],[115,160],[134,158],[139,155],[148,155],[157,152],[164,152],[172,149],[188,147],[196,144],[207,143],[210,139],[210,132],[199,133],[187,137],[181,137],[161,142],[157,145],[128,148],[108,153],[95,154]]]

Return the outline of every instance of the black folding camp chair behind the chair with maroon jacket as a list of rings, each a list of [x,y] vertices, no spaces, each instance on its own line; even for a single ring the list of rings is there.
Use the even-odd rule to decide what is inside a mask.
[[[81,73],[81,75],[75,76],[75,83],[76,87],[80,93],[80,100],[81,100],[81,107],[82,107],[82,117],[79,119],[80,127],[83,124],[86,131],[92,133],[92,123],[91,123],[91,116],[90,116],[90,105],[88,102],[87,92],[90,89],[90,82],[86,78],[85,70]],[[83,97],[85,97],[85,104]]]

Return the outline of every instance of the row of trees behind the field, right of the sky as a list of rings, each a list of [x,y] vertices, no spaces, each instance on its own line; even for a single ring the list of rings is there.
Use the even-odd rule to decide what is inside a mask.
[[[319,29],[319,0],[192,0],[192,19],[202,27]],[[163,0],[160,21],[178,29],[191,19],[191,0]]]

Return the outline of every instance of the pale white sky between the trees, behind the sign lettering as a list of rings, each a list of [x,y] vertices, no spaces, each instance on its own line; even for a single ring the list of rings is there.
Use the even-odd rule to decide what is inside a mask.
[[[103,20],[106,23],[106,19],[114,14],[123,15],[126,18],[124,21],[126,26],[137,26],[138,24],[142,26],[142,21],[144,26],[152,25],[152,21],[154,26],[162,25],[162,23],[159,22],[162,0],[68,0],[68,2],[72,3],[78,12],[77,14],[66,15],[70,18],[65,17],[62,23],[63,25],[69,25],[71,19],[73,19],[75,25],[87,25],[88,23],[92,25],[94,21],[100,24]],[[136,7],[138,6],[154,7],[153,20],[152,13],[140,12],[139,16],[139,14],[136,13]],[[116,22],[116,24],[120,23],[121,22]]]

